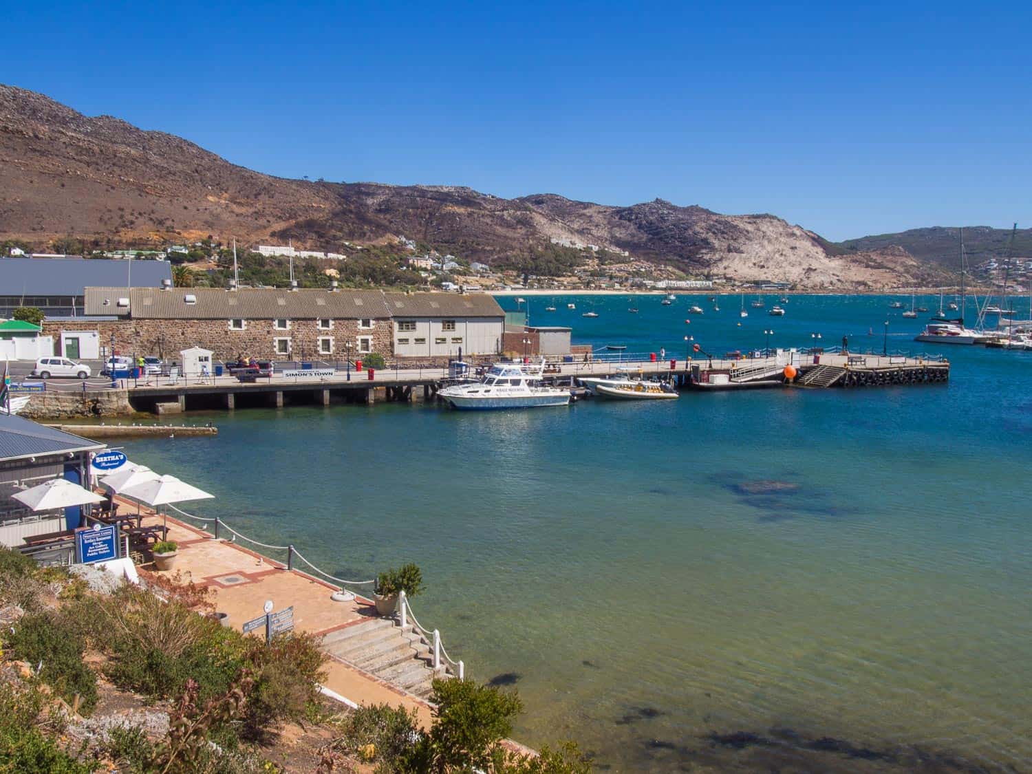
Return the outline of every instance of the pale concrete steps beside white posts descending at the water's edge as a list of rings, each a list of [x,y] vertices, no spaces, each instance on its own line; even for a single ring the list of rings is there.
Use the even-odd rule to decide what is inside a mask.
[[[330,632],[323,637],[322,647],[421,699],[429,697],[430,681],[446,674],[443,667],[434,672],[430,646],[423,638],[411,626],[402,630],[393,618],[374,618]]]

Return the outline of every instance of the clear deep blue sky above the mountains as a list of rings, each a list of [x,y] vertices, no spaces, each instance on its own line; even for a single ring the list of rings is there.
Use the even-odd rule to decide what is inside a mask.
[[[838,7],[838,6],[842,7]],[[19,3],[0,83],[283,176],[1032,222],[1029,3]]]

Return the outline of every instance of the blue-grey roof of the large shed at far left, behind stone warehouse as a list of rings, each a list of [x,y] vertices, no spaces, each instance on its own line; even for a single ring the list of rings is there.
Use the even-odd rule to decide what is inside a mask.
[[[129,264],[132,264],[130,268]],[[161,287],[172,279],[165,261],[126,261],[107,258],[0,258],[2,295],[83,295],[91,286]]]

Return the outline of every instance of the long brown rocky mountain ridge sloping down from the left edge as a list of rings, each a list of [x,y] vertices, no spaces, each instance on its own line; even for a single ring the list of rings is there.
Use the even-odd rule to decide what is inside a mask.
[[[0,241],[43,247],[74,235],[115,246],[207,234],[330,250],[404,234],[494,264],[557,240],[695,275],[806,288],[932,284],[938,272],[896,244],[843,249],[772,215],[728,216],[662,199],[619,207],[554,194],[504,199],[449,186],[285,180],[170,134],[0,86]]]

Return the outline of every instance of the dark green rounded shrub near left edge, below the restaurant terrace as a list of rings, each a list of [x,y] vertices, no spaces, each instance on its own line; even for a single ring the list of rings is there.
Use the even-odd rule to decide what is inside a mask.
[[[83,664],[83,638],[61,625],[51,612],[22,616],[7,637],[15,658],[33,667],[42,664],[39,677],[71,704],[79,697],[79,709],[88,713],[97,703],[96,675]]]

